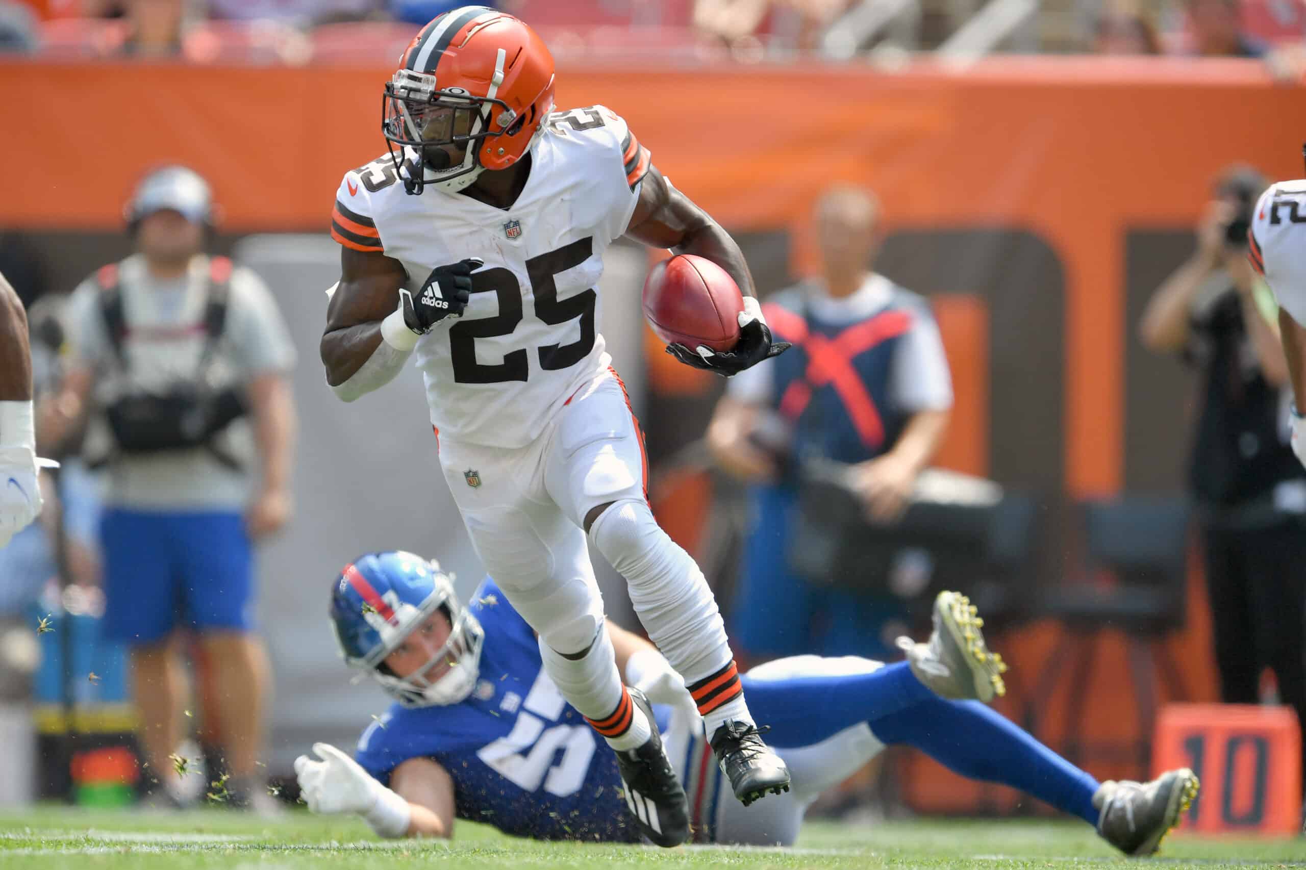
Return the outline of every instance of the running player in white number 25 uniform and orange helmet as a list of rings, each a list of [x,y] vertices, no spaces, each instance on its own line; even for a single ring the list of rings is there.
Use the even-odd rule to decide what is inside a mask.
[[[525,24],[462,7],[423,27],[385,86],[389,153],[345,174],[343,247],[321,340],[345,401],[426,379],[440,464],[486,568],[539,635],[563,696],[656,807],[654,843],[688,836],[684,792],[622,685],[586,534],[627,579],[649,636],[684,678],[742,802],[789,786],[744,703],[712,592],[657,525],[643,435],[596,330],[603,251],[619,236],[696,253],[739,285],[726,353],[667,347],[733,375],[772,342],[734,240],[673,188],[602,106],[554,111],[554,61]]]

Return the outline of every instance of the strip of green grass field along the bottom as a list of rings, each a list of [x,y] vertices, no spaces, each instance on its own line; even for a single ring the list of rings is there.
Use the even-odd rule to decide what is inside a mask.
[[[1083,824],[1041,820],[919,820],[870,827],[810,824],[794,849],[657,849],[530,843],[460,823],[457,840],[377,840],[360,822],[290,813],[264,822],[227,810],[178,815],[42,807],[0,815],[0,867],[221,867],[222,870],[390,870],[401,867],[609,870],[622,867],[1055,867],[1124,858]],[[1171,836],[1158,867],[1306,865],[1306,840]]]

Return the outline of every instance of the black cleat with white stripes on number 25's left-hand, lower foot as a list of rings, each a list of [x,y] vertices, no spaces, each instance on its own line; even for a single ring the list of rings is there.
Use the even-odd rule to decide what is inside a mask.
[[[690,802],[662,749],[649,699],[637,688],[628,691],[631,701],[644,711],[653,734],[639,749],[613,750],[622,773],[626,805],[645,837],[660,846],[677,846],[690,839]]]

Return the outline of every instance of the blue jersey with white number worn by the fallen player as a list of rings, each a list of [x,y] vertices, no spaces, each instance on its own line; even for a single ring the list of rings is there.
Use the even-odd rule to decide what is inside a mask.
[[[453,779],[458,818],[504,833],[639,841],[616,756],[545,674],[530,626],[488,579],[468,607],[485,630],[471,695],[448,707],[393,704],[363,732],[358,763],[389,784],[407,759],[430,758]]]

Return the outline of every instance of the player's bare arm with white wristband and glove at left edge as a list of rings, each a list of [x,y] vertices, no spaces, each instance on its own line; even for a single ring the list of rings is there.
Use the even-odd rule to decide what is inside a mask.
[[[22,299],[0,274],[0,547],[40,515],[31,417],[31,349]]]

